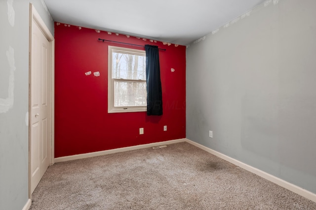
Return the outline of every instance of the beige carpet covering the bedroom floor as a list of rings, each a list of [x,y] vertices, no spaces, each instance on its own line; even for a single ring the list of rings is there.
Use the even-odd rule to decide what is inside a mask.
[[[50,166],[31,210],[316,210],[316,203],[178,143]]]

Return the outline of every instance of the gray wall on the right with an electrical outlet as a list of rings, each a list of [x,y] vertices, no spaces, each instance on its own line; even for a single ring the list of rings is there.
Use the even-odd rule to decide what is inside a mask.
[[[315,11],[274,0],[187,49],[187,138],[313,193]]]

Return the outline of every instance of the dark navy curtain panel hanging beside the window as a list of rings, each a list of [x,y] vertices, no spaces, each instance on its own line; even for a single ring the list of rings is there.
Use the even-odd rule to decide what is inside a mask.
[[[147,115],[162,115],[162,91],[158,46],[145,45]]]

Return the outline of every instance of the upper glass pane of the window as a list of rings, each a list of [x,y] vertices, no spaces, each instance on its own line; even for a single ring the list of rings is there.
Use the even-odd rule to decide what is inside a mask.
[[[146,57],[112,52],[112,78],[146,80]]]

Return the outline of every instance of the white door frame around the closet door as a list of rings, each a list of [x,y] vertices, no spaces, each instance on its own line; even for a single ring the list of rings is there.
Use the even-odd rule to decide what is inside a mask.
[[[38,25],[44,36],[47,38],[50,44],[50,107],[49,110],[49,118],[51,119],[51,133],[50,139],[51,142],[50,147],[50,156],[49,158],[49,165],[54,164],[54,90],[55,90],[55,69],[54,69],[54,57],[55,57],[55,39],[54,36],[51,34],[47,26],[45,25],[44,21],[41,19],[40,14],[36,11],[34,5],[30,3],[30,20],[29,20],[29,199],[32,200],[32,192],[31,192],[31,178],[32,178],[32,171],[31,171],[31,68],[32,68],[32,25],[33,21]]]

